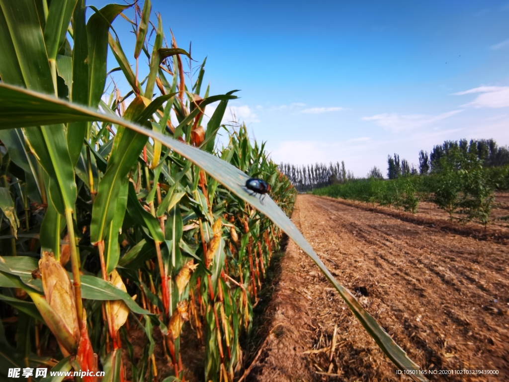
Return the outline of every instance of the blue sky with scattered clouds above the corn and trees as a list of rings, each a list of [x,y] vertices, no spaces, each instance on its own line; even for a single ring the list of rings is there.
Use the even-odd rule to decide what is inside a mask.
[[[211,94],[241,90],[231,112],[276,162],[345,160],[364,176],[444,140],[509,143],[507,1],[181,4],[152,10],[208,57]],[[129,51],[129,24],[113,25]]]

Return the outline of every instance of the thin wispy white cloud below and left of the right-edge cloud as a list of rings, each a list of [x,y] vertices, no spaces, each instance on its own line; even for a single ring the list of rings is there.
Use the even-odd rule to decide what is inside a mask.
[[[398,114],[398,113],[384,113],[377,114],[372,117],[364,117],[363,121],[375,121],[375,123],[387,130],[394,132],[415,129],[418,127],[428,126],[449,118],[455,114],[461,113],[462,110],[453,110],[451,112],[442,113],[436,116],[429,116],[424,114]]]

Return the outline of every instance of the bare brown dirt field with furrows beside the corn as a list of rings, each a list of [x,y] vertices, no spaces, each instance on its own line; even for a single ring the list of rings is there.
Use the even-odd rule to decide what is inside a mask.
[[[423,369],[497,369],[501,376],[431,380],[509,378],[507,232],[479,239],[459,225],[443,229],[311,195],[298,197],[292,220]],[[279,267],[247,381],[408,380],[293,242]]]

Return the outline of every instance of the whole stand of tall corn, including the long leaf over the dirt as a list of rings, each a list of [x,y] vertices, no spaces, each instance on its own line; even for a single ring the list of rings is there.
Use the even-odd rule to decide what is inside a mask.
[[[134,5],[134,20],[124,14],[130,7],[90,7],[86,20],[84,0],[0,0],[0,298],[12,325],[0,328],[8,349],[0,373],[44,365],[103,370],[111,381],[159,380],[158,328],[168,380],[186,377],[183,336],[205,345],[206,380],[234,380],[239,337],[282,232],[387,356],[418,369],[291,223],[296,191],[264,144],[251,144],[240,125],[217,147],[234,91],[202,92],[205,61],[186,83],[182,57],[190,54],[173,36],[166,45],[150,1]],[[134,68],[111,26],[118,16],[136,35]],[[105,93],[108,48],[131,88],[125,94]],[[142,62],[148,75],[140,81]],[[247,192],[250,177],[272,185],[263,202]],[[140,360],[133,330],[146,336]],[[54,342],[58,362],[41,356]]]

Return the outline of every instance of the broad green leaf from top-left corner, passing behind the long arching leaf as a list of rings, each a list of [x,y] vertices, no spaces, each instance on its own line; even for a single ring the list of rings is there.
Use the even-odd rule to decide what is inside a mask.
[[[6,21],[6,25],[0,30],[2,33],[0,39],[5,38],[8,40],[5,44],[8,47],[16,46],[16,49],[12,51],[13,56],[0,55],[2,56],[0,73],[3,75],[5,70],[15,67],[19,68],[19,72],[16,70],[7,72],[7,78],[3,76],[3,80],[12,80],[15,84],[23,84],[27,88],[44,93],[54,93],[44,38],[35,7],[27,0],[6,3],[0,3]],[[20,29],[21,26],[23,29]],[[8,61],[10,63],[7,63]],[[21,78],[16,78],[19,74]],[[50,197],[56,208],[61,213],[64,213],[64,207],[72,209],[77,194],[64,125],[32,127],[25,129],[24,133],[32,152],[53,181]]]

